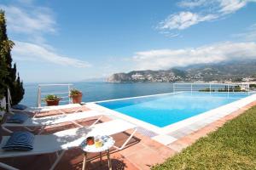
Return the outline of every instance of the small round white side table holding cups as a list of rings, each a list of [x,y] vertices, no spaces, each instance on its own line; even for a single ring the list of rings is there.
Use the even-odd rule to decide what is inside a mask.
[[[108,167],[111,170],[112,169],[112,164],[110,160],[110,153],[109,149],[113,147],[113,144],[115,141],[111,136],[102,136],[103,139],[103,145],[102,147],[96,147],[95,144],[88,145],[86,144],[86,139],[84,140],[83,144],[81,144],[81,149],[84,150],[84,161],[83,161],[83,170],[85,170],[86,167],[86,162],[87,162],[87,153],[100,153],[100,161],[102,162],[102,152],[106,151],[107,156],[108,156]]]

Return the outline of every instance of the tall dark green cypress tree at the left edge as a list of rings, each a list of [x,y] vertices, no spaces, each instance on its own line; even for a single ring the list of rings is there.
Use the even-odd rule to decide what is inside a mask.
[[[16,72],[16,65],[12,65],[13,59],[11,57],[11,49],[14,47],[14,45],[15,43],[9,40],[6,33],[4,11],[0,10],[0,95],[1,93],[2,95],[6,93],[6,88],[9,88],[13,105],[18,104],[24,95],[23,83],[20,81],[20,76]]]

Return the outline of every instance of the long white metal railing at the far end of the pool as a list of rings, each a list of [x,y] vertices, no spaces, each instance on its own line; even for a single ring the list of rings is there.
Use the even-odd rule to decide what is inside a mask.
[[[250,83],[173,83],[173,92],[255,93],[256,85]]]

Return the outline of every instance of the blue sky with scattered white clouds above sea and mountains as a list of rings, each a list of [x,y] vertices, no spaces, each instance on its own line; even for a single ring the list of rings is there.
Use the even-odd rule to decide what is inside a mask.
[[[0,0],[24,82],[256,59],[256,0]]]

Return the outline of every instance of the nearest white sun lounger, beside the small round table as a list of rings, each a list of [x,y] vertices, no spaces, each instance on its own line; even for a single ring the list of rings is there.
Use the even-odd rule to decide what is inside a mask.
[[[91,135],[113,135],[116,133],[125,132],[129,129],[134,129],[130,137],[126,139],[125,143],[120,148],[115,147],[118,150],[122,150],[137,131],[137,127],[135,125],[123,120],[102,122],[100,124],[96,124],[93,127],[78,127],[49,135],[36,135],[34,139],[33,150],[29,151],[2,150],[3,145],[6,144],[7,140],[9,139],[9,136],[3,136],[2,142],[0,144],[0,158],[56,153],[57,158],[53,165],[50,167],[50,170],[52,170],[61,160],[61,157],[64,155],[66,150],[79,147],[84,139],[86,139],[86,137]],[[15,167],[11,167],[1,162],[0,167],[12,170],[16,169]]]

